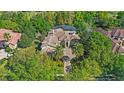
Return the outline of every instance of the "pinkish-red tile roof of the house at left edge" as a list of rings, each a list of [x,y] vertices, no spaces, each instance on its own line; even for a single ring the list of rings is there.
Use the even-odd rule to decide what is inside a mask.
[[[13,32],[12,30],[8,29],[0,29],[0,41],[5,40],[4,39],[4,34],[9,33],[10,34],[10,39],[8,41],[9,44],[17,44],[18,40],[21,38],[21,33]]]

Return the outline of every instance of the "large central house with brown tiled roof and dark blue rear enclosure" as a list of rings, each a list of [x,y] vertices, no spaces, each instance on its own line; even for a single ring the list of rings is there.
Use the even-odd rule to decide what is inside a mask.
[[[56,46],[60,45],[62,41],[65,42],[65,47],[70,47],[71,40],[80,39],[76,35],[76,28],[68,25],[60,25],[54,27],[45,37],[41,48],[44,52],[53,51]]]

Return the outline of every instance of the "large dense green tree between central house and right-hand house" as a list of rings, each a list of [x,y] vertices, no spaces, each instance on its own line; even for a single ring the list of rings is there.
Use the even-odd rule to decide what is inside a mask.
[[[112,61],[112,42],[108,37],[99,32],[92,32],[86,43],[88,55],[95,60],[107,74]]]

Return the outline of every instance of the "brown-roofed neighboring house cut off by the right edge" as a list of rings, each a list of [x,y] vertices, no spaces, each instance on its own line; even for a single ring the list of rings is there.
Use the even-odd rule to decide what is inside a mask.
[[[99,28],[97,31],[105,34],[112,40],[112,52],[113,53],[124,53],[124,29],[115,28],[111,31],[104,31]]]

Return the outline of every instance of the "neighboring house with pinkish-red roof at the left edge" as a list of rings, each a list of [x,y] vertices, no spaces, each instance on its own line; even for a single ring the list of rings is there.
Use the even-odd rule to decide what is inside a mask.
[[[15,49],[17,47],[17,43],[21,38],[21,33],[13,32],[12,30],[8,29],[0,29],[0,46],[2,46],[2,42],[5,42],[5,33],[8,33],[10,35],[10,38],[8,41],[6,41],[7,45],[11,49]]]

